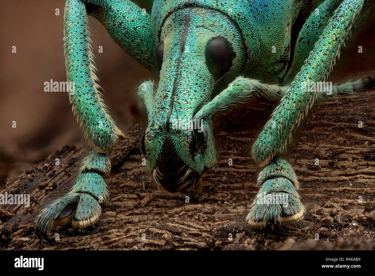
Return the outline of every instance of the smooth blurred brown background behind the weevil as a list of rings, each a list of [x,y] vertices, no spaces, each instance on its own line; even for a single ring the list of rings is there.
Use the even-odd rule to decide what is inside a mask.
[[[151,11],[152,0],[135,1]],[[0,189],[6,178],[15,177],[41,162],[66,144],[84,145],[82,130],[71,112],[65,92],[44,92],[44,82],[66,81],[63,55],[65,0],[1,1],[0,30]],[[55,9],[60,15],[55,15]],[[142,117],[136,87],[157,77],[117,46],[95,19],[89,18],[104,99],[121,129]],[[373,28],[373,27],[372,27]],[[374,70],[375,39],[371,31],[347,43],[332,81]],[[103,46],[103,53],[98,47]],[[358,53],[358,45],[363,53]],[[12,53],[12,46],[17,52]],[[96,51],[96,52],[95,52]],[[12,128],[12,121],[17,128]]]

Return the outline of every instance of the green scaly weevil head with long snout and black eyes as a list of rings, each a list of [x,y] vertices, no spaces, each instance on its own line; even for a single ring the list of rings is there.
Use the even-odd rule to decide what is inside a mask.
[[[159,40],[154,56],[160,81],[142,96],[148,127],[141,147],[154,180],[177,192],[194,186],[216,162],[211,116],[194,115],[217,86],[242,72],[246,51],[233,21],[197,7],[171,13]]]

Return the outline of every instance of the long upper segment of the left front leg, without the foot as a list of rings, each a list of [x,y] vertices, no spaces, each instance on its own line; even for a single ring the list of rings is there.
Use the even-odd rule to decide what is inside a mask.
[[[65,59],[72,110],[84,127],[85,137],[98,152],[106,152],[123,134],[110,117],[96,84],[96,68],[90,51],[86,7],[81,0],[68,0],[65,7]]]

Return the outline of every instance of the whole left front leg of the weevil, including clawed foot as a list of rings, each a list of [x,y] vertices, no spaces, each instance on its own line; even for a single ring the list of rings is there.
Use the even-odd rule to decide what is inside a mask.
[[[87,226],[98,220],[101,207],[98,200],[108,192],[101,174],[109,173],[110,150],[122,135],[111,119],[95,83],[95,67],[90,52],[86,25],[86,7],[81,0],[68,0],[65,6],[65,57],[68,81],[75,90],[69,94],[77,120],[81,120],[85,136],[95,149],[85,159],[71,192],[57,199],[36,218],[36,234],[46,238],[53,225],[72,222],[72,226]]]

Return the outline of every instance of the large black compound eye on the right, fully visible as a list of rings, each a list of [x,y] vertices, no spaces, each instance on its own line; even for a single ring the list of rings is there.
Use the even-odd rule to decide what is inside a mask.
[[[208,41],[205,55],[208,70],[218,79],[231,67],[234,53],[229,42],[217,36]]]

